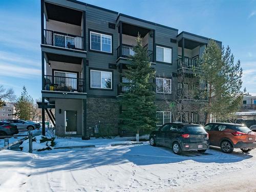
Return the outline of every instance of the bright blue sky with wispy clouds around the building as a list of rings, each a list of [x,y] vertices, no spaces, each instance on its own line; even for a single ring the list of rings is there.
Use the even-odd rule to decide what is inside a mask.
[[[83,2],[222,41],[241,60],[243,86],[256,94],[255,0]],[[40,1],[1,0],[0,18],[0,84],[16,95],[25,85],[40,98]]]

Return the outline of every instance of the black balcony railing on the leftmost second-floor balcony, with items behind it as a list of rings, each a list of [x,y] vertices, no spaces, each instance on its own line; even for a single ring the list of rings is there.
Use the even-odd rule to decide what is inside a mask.
[[[84,79],[45,75],[44,90],[46,91],[65,91],[65,92],[84,92]]]

